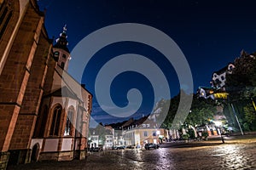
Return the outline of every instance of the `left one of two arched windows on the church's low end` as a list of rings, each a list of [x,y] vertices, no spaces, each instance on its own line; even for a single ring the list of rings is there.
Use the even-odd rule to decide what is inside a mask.
[[[59,134],[59,128],[60,128],[60,122],[61,122],[61,111],[62,107],[61,105],[56,105],[54,110],[53,110],[53,117],[52,117],[52,122],[50,126],[50,131],[49,135],[57,136]]]

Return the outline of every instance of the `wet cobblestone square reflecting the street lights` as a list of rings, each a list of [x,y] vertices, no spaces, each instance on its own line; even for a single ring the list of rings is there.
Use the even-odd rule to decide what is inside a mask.
[[[256,137],[162,144],[158,150],[104,150],[86,161],[44,161],[8,169],[256,169]]]

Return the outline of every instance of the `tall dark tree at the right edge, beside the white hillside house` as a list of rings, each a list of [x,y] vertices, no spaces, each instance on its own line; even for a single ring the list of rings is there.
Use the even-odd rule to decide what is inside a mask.
[[[241,54],[234,62],[236,68],[226,76],[225,88],[229,95],[229,103],[239,113],[244,130],[253,130],[253,102],[256,96],[256,58],[255,54]]]

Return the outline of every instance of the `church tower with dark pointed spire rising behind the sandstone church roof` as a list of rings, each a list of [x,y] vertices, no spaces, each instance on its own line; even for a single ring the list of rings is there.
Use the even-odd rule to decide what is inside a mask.
[[[56,39],[56,44],[53,46],[54,58],[64,71],[67,71],[68,61],[71,59],[67,45],[67,26],[65,25],[60,37]]]

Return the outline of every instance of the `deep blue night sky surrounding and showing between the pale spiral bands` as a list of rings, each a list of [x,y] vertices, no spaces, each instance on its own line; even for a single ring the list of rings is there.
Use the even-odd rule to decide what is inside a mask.
[[[165,32],[177,43],[189,62],[194,92],[199,86],[210,86],[212,72],[234,61],[241,49],[248,53],[256,51],[254,1],[38,0],[38,4],[41,10],[46,8],[45,26],[49,37],[58,37],[67,24],[71,52],[91,32],[113,24],[139,23]],[[118,42],[102,48],[86,67],[89,73],[78,81],[85,83],[95,96],[95,79],[99,69],[114,56],[127,53],[147,56],[160,65],[170,84],[172,96],[178,94],[180,85],[172,65],[157,50],[137,42]],[[113,102],[120,107],[126,105],[125,96],[129,89],[138,88],[142,92],[143,104],[131,117],[150,113],[154,93],[146,77],[132,71],[124,72],[114,79],[112,85]],[[97,105],[95,97],[93,105],[92,117],[96,122],[111,123],[129,118],[109,116]]]

